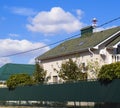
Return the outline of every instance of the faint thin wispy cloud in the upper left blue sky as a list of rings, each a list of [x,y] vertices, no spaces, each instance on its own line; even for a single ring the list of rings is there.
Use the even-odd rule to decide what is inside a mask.
[[[18,15],[23,15],[23,16],[31,16],[31,15],[35,15],[37,13],[31,8],[12,7],[10,9],[13,13],[18,14]]]

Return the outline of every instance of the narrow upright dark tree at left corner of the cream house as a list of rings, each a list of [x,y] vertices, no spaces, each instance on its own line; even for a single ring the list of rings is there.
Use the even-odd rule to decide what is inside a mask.
[[[36,70],[33,73],[35,83],[43,83],[45,81],[46,73],[47,72],[43,69],[43,67],[36,63]]]

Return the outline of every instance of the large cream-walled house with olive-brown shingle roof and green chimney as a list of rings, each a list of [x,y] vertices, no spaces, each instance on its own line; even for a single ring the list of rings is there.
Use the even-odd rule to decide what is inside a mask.
[[[72,58],[87,65],[89,61],[97,60],[100,65],[120,61],[120,27],[114,27],[99,32],[93,32],[93,27],[81,29],[78,38],[67,40],[55,48],[36,58],[47,70],[48,82],[59,82],[60,78],[54,71],[61,63]],[[89,79],[89,78],[88,78]]]

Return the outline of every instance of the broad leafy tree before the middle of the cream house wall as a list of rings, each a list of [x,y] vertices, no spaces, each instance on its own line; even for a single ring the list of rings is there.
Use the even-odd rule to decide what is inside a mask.
[[[76,61],[72,59],[61,64],[60,70],[57,71],[59,77],[65,81],[77,81],[87,79],[87,73],[83,73]]]

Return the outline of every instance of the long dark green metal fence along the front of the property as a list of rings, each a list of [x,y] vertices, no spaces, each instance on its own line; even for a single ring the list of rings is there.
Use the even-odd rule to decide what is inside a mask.
[[[0,88],[0,100],[120,102],[120,80],[104,85],[99,81]]]

